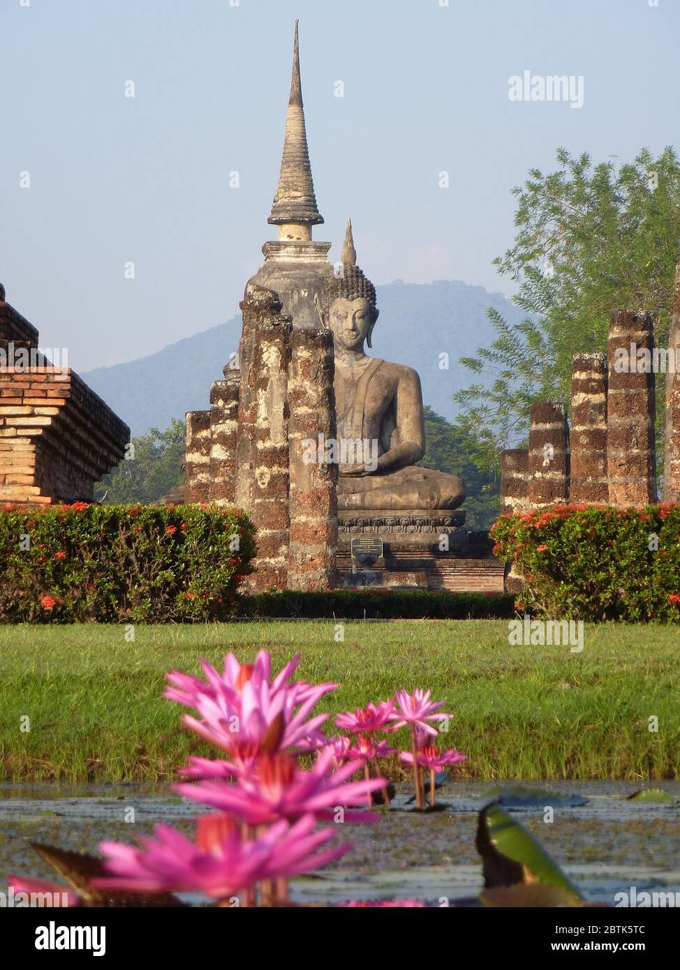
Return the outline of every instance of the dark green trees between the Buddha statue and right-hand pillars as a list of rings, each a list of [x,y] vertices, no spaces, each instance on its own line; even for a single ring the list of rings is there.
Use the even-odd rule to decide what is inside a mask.
[[[459,475],[468,496],[463,508],[469,529],[490,529],[499,514],[499,480],[493,471],[482,471],[475,463],[477,442],[465,429],[450,424],[431,407],[424,408],[425,454],[428,469]]]

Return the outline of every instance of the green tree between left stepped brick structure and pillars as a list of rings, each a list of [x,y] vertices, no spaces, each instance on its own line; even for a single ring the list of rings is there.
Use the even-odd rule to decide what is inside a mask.
[[[106,505],[142,502],[148,505],[182,484],[184,422],[177,418],[169,428],[149,428],[133,437],[134,451],[95,486],[94,497]]]

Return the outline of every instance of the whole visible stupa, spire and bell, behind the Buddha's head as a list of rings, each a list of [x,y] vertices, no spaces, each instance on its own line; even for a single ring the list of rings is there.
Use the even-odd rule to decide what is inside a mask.
[[[329,303],[334,271],[328,261],[331,243],[311,239],[312,226],[320,225],[323,216],[316,205],[309,164],[297,20],[281,168],[267,221],[278,226],[278,239],[265,242],[264,265],[248,282],[275,290],[294,327],[318,328]]]

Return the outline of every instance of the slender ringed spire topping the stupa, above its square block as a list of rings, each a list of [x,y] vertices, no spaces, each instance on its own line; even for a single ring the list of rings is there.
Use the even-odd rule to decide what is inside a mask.
[[[305,109],[300,83],[300,48],[298,21],[295,21],[293,76],[286,114],[285,136],[278,188],[267,220],[278,226],[279,240],[300,242],[311,239],[311,227],[320,225],[323,216],[316,207],[314,182],[311,178]]]

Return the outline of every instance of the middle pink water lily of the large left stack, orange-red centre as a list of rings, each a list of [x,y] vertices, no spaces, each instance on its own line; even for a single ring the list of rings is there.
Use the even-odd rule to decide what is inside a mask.
[[[303,771],[288,755],[261,755],[247,774],[231,768],[231,773],[238,776],[237,785],[205,781],[173,788],[193,801],[232,812],[246,824],[261,825],[278,819],[294,820],[309,813],[318,818],[328,817],[326,810],[367,802],[371,792],[386,784],[382,778],[344,784],[363,767],[363,761],[352,760],[333,771],[333,758],[333,752],[321,752],[311,769]],[[230,770],[226,761],[222,767],[225,773]],[[376,816],[345,812],[345,819],[373,822]]]

